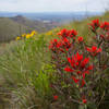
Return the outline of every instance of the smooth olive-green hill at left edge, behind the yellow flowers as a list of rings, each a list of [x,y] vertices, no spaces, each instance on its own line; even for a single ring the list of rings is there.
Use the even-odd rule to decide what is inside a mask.
[[[19,24],[8,17],[0,17],[0,41],[9,41],[28,29],[25,25]]]

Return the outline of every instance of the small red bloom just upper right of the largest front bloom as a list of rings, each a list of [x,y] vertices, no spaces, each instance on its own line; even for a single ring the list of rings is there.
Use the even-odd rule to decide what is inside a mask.
[[[96,46],[93,46],[92,48],[86,47],[86,50],[90,52],[93,57],[97,56],[99,52],[101,52],[101,48],[97,48]]]

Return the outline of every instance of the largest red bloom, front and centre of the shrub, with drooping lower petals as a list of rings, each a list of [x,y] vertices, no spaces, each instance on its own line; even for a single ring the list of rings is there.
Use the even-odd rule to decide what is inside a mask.
[[[85,75],[89,74],[89,70],[93,70],[93,66],[88,65],[89,58],[83,58],[83,55],[77,52],[72,56],[72,58],[68,58],[68,62],[70,63],[70,66],[65,66],[64,71],[76,73],[75,76],[72,76],[72,80],[75,83],[81,82],[81,86],[83,87],[85,85]]]

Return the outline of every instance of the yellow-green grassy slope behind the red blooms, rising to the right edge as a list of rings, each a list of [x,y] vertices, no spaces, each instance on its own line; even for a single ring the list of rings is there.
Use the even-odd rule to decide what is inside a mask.
[[[90,35],[90,31],[89,31],[89,23],[93,20],[99,20],[100,22],[107,21],[109,22],[109,12],[104,13],[102,15],[97,15],[97,16],[93,16],[93,17],[87,17],[85,20],[82,21],[74,21],[71,22],[68,25],[62,26],[61,28],[69,28],[69,29],[76,29],[78,32],[80,36],[84,36],[86,37],[86,39],[88,39],[87,37]]]

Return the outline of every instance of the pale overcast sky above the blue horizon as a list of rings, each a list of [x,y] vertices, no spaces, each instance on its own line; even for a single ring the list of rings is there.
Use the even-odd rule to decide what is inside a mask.
[[[0,11],[9,12],[99,12],[108,7],[109,0],[0,0]]]

